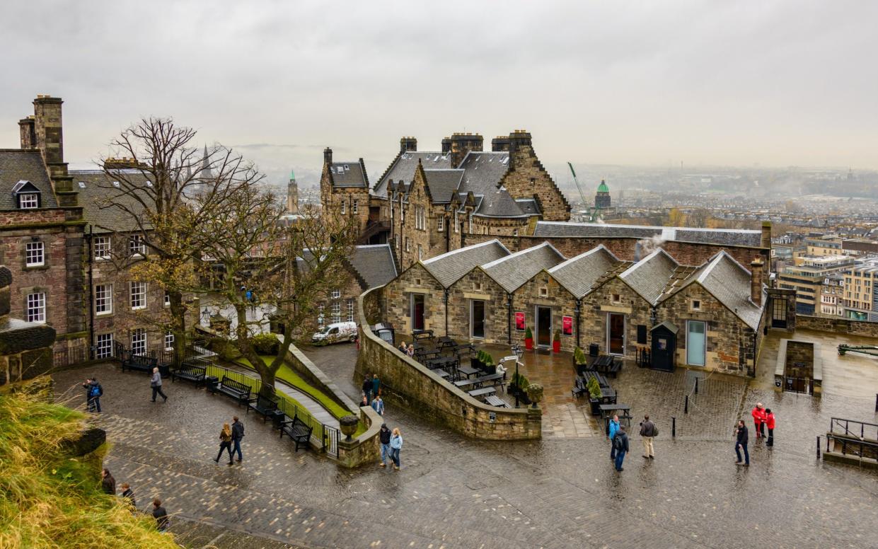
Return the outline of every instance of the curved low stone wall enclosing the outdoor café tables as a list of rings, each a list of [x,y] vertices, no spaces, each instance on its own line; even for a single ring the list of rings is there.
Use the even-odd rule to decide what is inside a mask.
[[[488,440],[529,440],[542,436],[539,408],[495,408],[472,398],[443,381],[435,372],[413,358],[403,356],[392,345],[371,333],[363,308],[373,288],[357,300],[360,317],[360,352],[355,379],[377,373],[381,394],[389,404],[404,407],[451,430]]]

